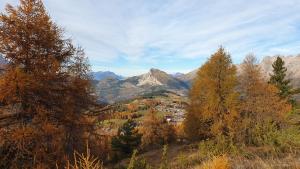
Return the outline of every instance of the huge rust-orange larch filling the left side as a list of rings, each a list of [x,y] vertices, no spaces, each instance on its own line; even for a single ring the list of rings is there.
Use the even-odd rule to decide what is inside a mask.
[[[41,0],[21,0],[0,15],[0,102],[15,123],[0,136],[0,168],[55,168],[80,151],[94,102],[84,52],[64,38]]]

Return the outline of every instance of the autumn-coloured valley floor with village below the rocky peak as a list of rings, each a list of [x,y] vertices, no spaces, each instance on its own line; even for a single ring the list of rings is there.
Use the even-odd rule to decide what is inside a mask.
[[[159,118],[168,124],[180,126],[184,121],[187,105],[187,97],[170,91],[160,91],[109,104],[104,108],[95,109],[93,112],[100,114],[99,120],[96,120],[98,133],[113,136],[128,119],[133,119],[138,126],[143,126],[143,120],[150,111],[157,112]],[[103,116],[103,114],[106,115]]]

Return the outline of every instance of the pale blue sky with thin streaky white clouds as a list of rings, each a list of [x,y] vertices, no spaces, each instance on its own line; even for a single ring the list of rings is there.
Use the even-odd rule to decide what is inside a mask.
[[[0,0],[0,10],[6,3]],[[300,0],[44,0],[82,46],[92,69],[131,76],[198,68],[222,45],[234,63],[248,53],[300,53]]]

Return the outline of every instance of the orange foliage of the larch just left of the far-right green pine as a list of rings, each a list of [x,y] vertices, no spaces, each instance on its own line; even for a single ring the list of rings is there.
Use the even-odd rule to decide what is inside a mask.
[[[242,114],[256,122],[268,118],[271,121],[282,121],[291,111],[291,105],[277,96],[278,89],[275,86],[264,80],[256,58],[247,56],[241,69],[239,81]]]

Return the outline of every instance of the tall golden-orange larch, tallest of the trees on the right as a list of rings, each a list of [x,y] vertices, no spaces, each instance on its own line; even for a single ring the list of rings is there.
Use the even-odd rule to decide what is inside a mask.
[[[221,47],[199,69],[190,90],[184,130],[190,139],[230,135],[238,118],[236,67]]]

